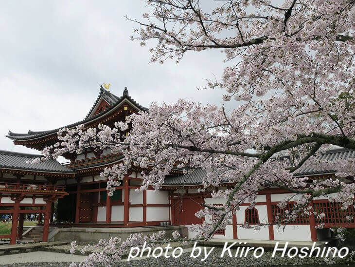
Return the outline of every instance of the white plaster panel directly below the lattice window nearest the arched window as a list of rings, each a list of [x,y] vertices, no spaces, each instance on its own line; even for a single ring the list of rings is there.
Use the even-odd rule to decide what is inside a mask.
[[[286,225],[284,229],[283,226],[274,225],[273,227],[275,240],[312,241],[311,227],[309,225]]]

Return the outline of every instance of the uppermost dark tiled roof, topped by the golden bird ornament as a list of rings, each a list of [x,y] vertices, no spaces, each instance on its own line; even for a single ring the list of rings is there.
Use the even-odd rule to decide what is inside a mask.
[[[104,90],[103,91],[104,93],[101,92],[102,90]],[[107,99],[109,98],[110,99],[109,101],[112,101],[114,103],[111,106],[109,106],[108,108],[106,108],[104,111],[102,111],[102,112],[100,112],[98,114],[95,114],[93,116],[89,116],[89,114],[92,112],[92,109],[95,107],[97,101],[100,99],[100,95],[106,95],[105,97]],[[142,111],[147,111],[148,110],[147,108],[142,107],[132,97],[130,97],[128,95],[127,88],[124,89],[123,95],[121,97],[113,95],[113,94],[109,93],[108,91],[106,91],[103,88],[100,89],[100,95],[96,99],[96,102],[95,102],[94,106],[92,107],[91,111],[89,112],[89,114],[87,115],[87,117],[85,119],[81,120],[81,121],[78,121],[78,122],[72,123],[70,125],[57,128],[57,129],[48,130],[48,131],[37,131],[37,132],[35,132],[35,131],[29,130],[28,133],[26,133],[26,134],[18,134],[18,133],[13,133],[13,132],[9,131],[9,134],[7,134],[6,137],[8,137],[8,138],[10,138],[12,140],[18,140],[18,141],[30,140],[30,139],[38,138],[38,137],[45,136],[45,135],[48,135],[48,134],[54,134],[54,133],[58,132],[59,129],[64,128],[64,127],[73,128],[73,127],[75,127],[75,126],[77,126],[79,124],[88,123],[89,121],[94,120],[94,119],[96,119],[96,118],[108,113],[112,109],[118,107],[119,104],[122,103],[122,101],[124,99],[127,99],[128,101],[130,101],[133,105],[135,105],[138,109],[140,109]],[[109,96],[107,96],[107,95],[109,95]]]

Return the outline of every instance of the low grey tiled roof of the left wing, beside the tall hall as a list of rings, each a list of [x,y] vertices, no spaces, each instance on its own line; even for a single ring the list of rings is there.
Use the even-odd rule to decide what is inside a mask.
[[[0,150],[0,168],[38,172],[75,173],[71,169],[61,165],[55,159],[49,159],[36,164],[27,163],[27,161],[41,156],[42,155]]]

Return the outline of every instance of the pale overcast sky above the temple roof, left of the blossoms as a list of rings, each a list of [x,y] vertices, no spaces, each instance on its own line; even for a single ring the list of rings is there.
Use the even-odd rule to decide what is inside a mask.
[[[197,90],[225,67],[219,51],[188,53],[175,64],[149,63],[149,46],[132,42],[144,2],[0,0],[0,150],[8,131],[50,130],[82,120],[103,82],[141,105],[178,98],[221,104],[221,90]],[[229,104],[233,105],[233,103]]]

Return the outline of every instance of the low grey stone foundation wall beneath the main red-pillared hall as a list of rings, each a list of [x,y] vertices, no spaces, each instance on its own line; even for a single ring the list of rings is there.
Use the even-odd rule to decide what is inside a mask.
[[[50,236],[50,241],[71,242],[76,241],[78,244],[96,244],[100,239],[109,240],[111,237],[121,237],[125,240],[129,235],[134,233],[143,233],[146,235],[165,231],[165,238],[172,238],[173,232],[176,230],[181,234],[184,233],[184,226],[162,226],[162,227],[132,227],[132,228],[58,228],[55,234]]]

